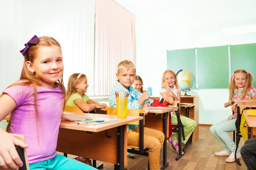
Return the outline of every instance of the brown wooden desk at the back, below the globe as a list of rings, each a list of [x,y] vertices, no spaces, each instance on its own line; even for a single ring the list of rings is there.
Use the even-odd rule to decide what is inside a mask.
[[[150,99],[159,99],[159,96],[150,96]],[[196,127],[192,133],[192,142],[195,144],[199,138],[199,96],[180,96],[180,103],[192,103],[192,105],[180,105],[180,115],[195,120]]]

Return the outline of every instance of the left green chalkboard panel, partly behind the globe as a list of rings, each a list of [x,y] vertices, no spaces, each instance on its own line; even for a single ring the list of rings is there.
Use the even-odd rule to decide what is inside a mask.
[[[192,74],[194,74],[196,79],[195,66],[195,48],[167,51],[168,70],[172,70],[175,73],[177,73],[177,71],[180,69],[183,69],[183,71],[190,71]],[[196,83],[192,89],[195,88]]]

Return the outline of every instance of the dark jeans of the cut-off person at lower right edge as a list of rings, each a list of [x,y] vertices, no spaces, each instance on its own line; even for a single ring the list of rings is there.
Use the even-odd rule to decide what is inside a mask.
[[[256,170],[256,138],[248,139],[241,147],[241,156],[248,170]]]

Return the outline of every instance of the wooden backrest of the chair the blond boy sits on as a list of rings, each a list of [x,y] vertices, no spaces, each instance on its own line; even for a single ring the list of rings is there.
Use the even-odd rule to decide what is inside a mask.
[[[105,108],[105,111],[107,111],[107,114],[110,115],[117,115],[116,108]],[[144,113],[142,109],[127,109],[127,116],[140,116],[140,113]],[[145,125],[145,119],[144,119],[144,114],[143,114],[143,120],[144,120],[144,125]],[[140,121],[136,122],[131,122],[129,125],[140,125]]]

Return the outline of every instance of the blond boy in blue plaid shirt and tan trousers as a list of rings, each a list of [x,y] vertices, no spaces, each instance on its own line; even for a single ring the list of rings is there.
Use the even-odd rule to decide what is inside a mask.
[[[108,100],[110,107],[116,108],[115,91],[120,91],[121,94],[129,92],[128,109],[143,109],[145,115],[148,114],[152,101],[149,99],[148,93],[141,94],[136,91],[131,85],[136,76],[136,68],[131,61],[124,60],[117,65],[116,85],[112,88]],[[139,127],[138,125],[128,125],[127,134],[128,144],[139,146]],[[144,147],[148,148],[148,161],[150,170],[159,170],[160,151],[163,145],[165,136],[159,130],[144,127]]]

